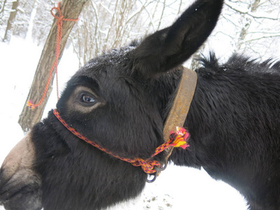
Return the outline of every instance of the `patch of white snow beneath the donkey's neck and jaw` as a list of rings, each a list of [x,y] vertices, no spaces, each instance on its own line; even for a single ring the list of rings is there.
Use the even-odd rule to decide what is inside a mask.
[[[237,191],[204,170],[169,165],[136,200],[113,209],[247,209]]]

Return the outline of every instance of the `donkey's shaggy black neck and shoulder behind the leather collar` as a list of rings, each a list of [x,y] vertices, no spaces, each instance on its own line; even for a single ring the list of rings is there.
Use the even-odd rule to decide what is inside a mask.
[[[190,150],[172,160],[204,167],[251,209],[280,209],[280,62],[234,55],[219,65],[212,54],[202,64],[185,124]]]

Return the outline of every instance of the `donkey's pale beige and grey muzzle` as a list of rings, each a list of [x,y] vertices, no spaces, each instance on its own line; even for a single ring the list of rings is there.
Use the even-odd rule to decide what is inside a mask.
[[[34,172],[34,146],[27,134],[6,157],[0,170],[0,205],[5,209],[42,208],[41,178]]]

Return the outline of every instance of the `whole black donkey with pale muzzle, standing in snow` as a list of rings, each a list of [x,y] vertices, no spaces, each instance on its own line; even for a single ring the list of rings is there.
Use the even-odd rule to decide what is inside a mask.
[[[3,162],[3,206],[104,209],[139,195],[147,179],[141,167],[90,144],[151,158],[164,142],[181,64],[211,34],[222,7],[223,0],[197,0],[171,27],[83,66],[57,102],[60,119],[50,111]],[[169,161],[203,167],[239,190],[250,209],[280,209],[280,62],[233,55],[218,64],[214,53],[201,62],[184,123],[189,147],[175,148]]]

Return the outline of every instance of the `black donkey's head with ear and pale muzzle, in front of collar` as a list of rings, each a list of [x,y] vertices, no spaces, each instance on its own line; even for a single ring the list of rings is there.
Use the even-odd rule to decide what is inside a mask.
[[[207,39],[222,6],[198,0],[171,27],[92,59],[67,83],[57,103],[62,118],[116,155],[150,158],[163,143],[181,64]],[[141,167],[81,141],[52,112],[20,144],[1,168],[6,209],[100,209],[139,195],[146,183]]]

